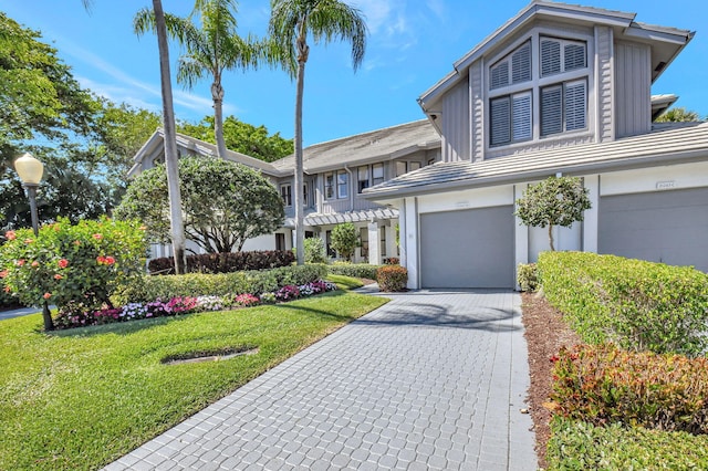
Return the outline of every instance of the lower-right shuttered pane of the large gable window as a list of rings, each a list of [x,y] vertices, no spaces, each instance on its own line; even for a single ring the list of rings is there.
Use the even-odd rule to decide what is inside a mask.
[[[541,88],[541,136],[585,129],[586,95],[585,80]]]

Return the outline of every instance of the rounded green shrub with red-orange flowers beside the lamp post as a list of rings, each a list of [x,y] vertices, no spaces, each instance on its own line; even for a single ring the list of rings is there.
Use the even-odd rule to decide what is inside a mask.
[[[118,286],[143,272],[147,245],[137,221],[67,219],[6,233],[0,247],[4,290],[27,305],[46,300],[61,312],[111,306]]]

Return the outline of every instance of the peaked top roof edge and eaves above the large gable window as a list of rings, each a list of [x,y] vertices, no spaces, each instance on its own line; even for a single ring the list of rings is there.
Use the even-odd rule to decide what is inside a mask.
[[[565,21],[603,24],[615,29],[617,36],[624,36],[634,41],[648,42],[652,46],[652,83],[666,70],[678,53],[693,39],[695,32],[676,28],[659,27],[635,22],[636,13],[627,13],[615,10],[606,10],[577,4],[556,3],[546,0],[533,0],[523,10],[512,17],[494,32],[485,38],[477,46],[456,61],[454,70],[424,92],[418,97],[420,107],[428,112],[430,104],[435,103],[445,92],[465,80],[469,73],[469,66],[478,59],[485,56],[491,49],[498,45],[504,38],[519,31],[531,21],[539,18],[550,18]]]

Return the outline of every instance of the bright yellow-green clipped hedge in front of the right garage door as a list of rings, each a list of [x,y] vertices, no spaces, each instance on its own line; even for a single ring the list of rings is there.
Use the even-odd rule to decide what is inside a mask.
[[[584,342],[700,355],[708,347],[708,275],[615,255],[543,252],[543,292]]]

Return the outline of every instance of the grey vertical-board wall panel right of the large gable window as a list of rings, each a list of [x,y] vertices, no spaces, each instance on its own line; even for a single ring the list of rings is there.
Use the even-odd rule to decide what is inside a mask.
[[[652,128],[649,46],[617,43],[615,50],[617,137],[648,133]]]

